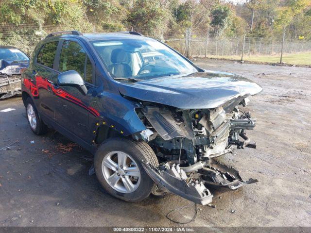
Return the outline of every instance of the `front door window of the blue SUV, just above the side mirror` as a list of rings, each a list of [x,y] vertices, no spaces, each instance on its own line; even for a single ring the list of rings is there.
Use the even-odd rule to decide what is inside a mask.
[[[93,67],[85,50],[74,41],[65,41],[59,59],[59,71],[77,71],[87,83],[93,83]]]

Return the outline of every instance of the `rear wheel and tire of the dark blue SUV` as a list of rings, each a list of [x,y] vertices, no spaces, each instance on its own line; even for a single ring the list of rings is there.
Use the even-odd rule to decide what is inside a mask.
[[[25,106],[26,106],[26,118],[28,120],[30,129],[37,135],[47,133],[48,127],[39,117],[37,109],[35,108],[35,104],[30,97],[28,97],[27,100],[25,101]]]

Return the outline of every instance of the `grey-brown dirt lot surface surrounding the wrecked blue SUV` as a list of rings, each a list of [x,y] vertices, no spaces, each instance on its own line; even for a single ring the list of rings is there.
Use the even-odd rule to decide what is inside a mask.
[[[195,62],[248,77],[264,91],[251,98],[249,107],[258,120],[249,132],[258,149],[238,150],[223,159],[259,183],[214,191],[216,208],[199,206],[188,225],[311,226],[311,69]],[[177,225],[166,214],[190,202],[174,195],[141,203],[110,197],[88,175],[89,153],[70,147],[58,133],[33,134],[20,98],[0,101],[0,110],[6,108],[16,110],[0,112],[0,148],[18,142],[0,151],[0,226]],[[62,147],[66,144],[69,151]],[[183,210],[180,220],[192,211]]]

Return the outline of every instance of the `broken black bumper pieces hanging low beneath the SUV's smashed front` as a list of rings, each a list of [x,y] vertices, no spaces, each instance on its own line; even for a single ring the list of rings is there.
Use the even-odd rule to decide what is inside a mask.
[[[237,170],[213,159],[210,159],[207,166],[197,166],[198,170],[187,173],[183,167],[175,164],[171,166],[169,163],[154,167],[150,163],[142,162],[142,166],[158,185],[182,198],[202,205],[212,202],[213,195],[207,186],[222,186],[235,190],[243,185],[258,182],[254,179],[242,181]]]

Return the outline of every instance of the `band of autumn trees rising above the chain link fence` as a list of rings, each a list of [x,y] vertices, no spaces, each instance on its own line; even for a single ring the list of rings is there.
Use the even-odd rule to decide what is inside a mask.
[[[0,0],[0,25],[59,26],[80,31],[191,31],[311,38],[310,0]]]

